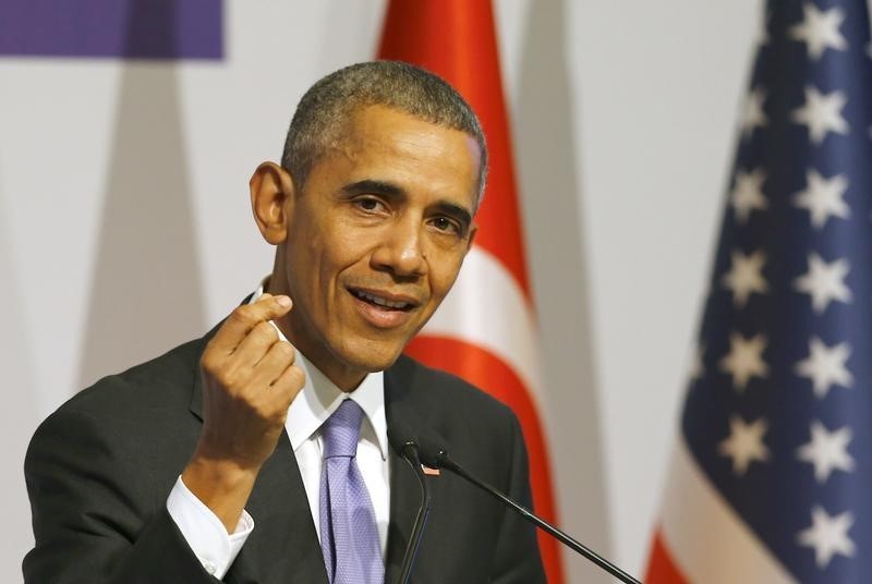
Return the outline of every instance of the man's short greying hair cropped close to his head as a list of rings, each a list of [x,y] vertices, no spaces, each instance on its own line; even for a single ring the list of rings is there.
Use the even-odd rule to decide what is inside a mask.
[[[396,109],[474,137],[481,150],[477,207],[487,174],[487,145],[479,118],[445,80],[401,61],[349,65],[323,77],[303,95],[281,155],[281,166],[298,188],[312,166],[341,139],[351,115],[366,106]]]

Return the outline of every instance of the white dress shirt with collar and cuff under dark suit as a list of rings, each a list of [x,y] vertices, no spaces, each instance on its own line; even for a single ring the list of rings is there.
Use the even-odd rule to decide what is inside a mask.
[[[255,302],[263,293],[264,285],[262,284],[250,302]],[[279,337],[287,340],[280,330]],[[372,373],[354,391],[346,393],[327,379],[299,351],[295,364],[305,373],[306,381],[288,409],[284,429],[290,438],[296,464],[300,466],[300,475],[303,478],[315,531],[320,538],[319,491],[323,464],[320,427],[343,400],[352,399],[366,414],[358,441],[358,465],[373,501],[384,559],[390,511],[384,375],[382,372]],[[252,516],[243,511],[237,528],[232,534],[228,534],[217,515],[187,489],[181,476],[177,479],[167,499],[167,510],[203,568],[218,580],[227,574],[249,535],[255,528]]]

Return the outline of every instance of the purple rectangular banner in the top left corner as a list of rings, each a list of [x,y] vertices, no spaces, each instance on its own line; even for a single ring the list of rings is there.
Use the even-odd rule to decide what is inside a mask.
[[[2,0],[0,56],[221,59],[223,0]]]

